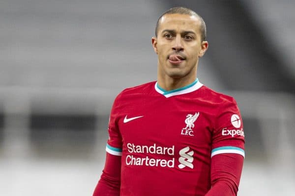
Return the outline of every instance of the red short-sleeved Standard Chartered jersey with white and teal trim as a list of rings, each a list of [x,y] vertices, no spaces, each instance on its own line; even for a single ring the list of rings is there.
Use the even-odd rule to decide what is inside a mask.
[[[120,196],[204,196],[211,157],[244,156],[244,131],[234,98],[198,79],[165,91],[150,82],[115,99],[106,150],[121,156]]]

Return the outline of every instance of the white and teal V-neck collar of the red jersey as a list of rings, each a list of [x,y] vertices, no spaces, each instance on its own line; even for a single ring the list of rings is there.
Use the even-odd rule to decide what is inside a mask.
[[[174,89],[171,91],[166,91],[164,89],[162,89],[159,85],[158,82],[155,83],[155,90],[162,94],[163,96],[165,96],[166,98],[170,98],[172,96],[176,96],[176,95],[182,95],[182,94],[186,94],[186,93],[191,93],[193,91],[198,90],[199,88],[201,88],[203,86],[203,84],[199,81],[199,79],[197,78],[193,83],[181,87],[179,89]]]

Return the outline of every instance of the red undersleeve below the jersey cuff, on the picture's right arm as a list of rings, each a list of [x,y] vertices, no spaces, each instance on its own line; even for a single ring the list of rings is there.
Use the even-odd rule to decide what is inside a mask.
[[[235,153],[218,154],[211,159],[212,188],[205,196],[236,196],[244,157]]]

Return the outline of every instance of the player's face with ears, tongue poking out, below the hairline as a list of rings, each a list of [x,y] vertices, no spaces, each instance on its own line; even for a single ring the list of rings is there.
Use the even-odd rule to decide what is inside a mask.
[[[152,45],[158,54],[158,75],[196,77],[198,60],[208,43],[201,41],[201,22],[196,16],[167,14],[159,21],[157,38]]]

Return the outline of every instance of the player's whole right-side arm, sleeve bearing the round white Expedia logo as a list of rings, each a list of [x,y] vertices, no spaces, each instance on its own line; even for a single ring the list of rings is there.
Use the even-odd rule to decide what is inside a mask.
[[[224,97],[212,135],[211,189],[206,196],[236,196],[244,161],[243,122],[231,97]]]

